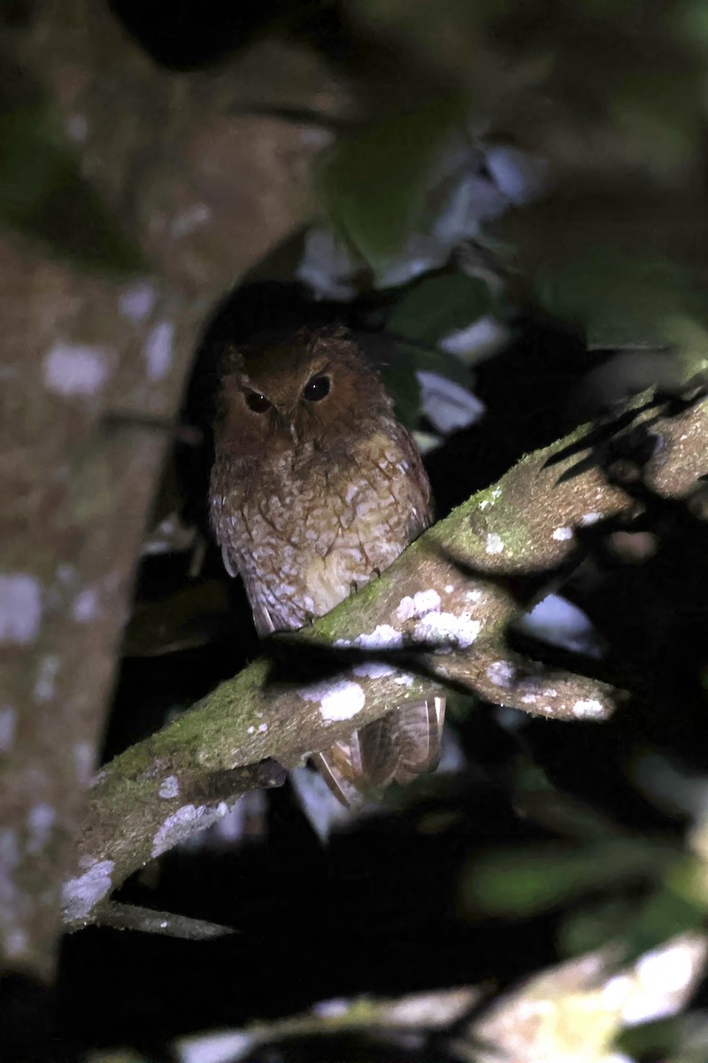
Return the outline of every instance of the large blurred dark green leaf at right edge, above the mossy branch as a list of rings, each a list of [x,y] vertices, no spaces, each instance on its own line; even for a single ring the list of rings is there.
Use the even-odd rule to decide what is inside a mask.
[[[592,344],[679,343],[681,322],[708,319],[695,269],[708,233],[702,202],[568,189],[494,229],[543,308]]]

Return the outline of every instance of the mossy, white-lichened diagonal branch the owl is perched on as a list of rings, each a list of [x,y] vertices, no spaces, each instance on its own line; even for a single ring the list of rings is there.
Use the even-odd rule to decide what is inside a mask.
[[[708,403],[670,416],[650,398],[636,401],[624,429],[651,422],[654,457],[639,475],[662,495],[685,497],[707,471]],[[499,583],[580,557],[584,529],[637,511],[636,497],[588,460],[584,433],[523,458],[380,579],[312,628],[275,640],[278,660],[256,661],[104,767],[82,840],[84,874],[66,888],[69,924],[96,918],[111,889],[224,815],[238,794],[277,784],[282,774],[274,761],[291,767],[345,738],[353,724],[431,697],[445,682],[554,719],[607,719],[610,688],[510,652],[505,631],[520,607]],[[288,664],[293,642],[299,681]],[[303,657],[322,648],[328,676],[303,681]]]

